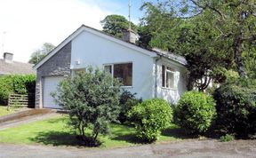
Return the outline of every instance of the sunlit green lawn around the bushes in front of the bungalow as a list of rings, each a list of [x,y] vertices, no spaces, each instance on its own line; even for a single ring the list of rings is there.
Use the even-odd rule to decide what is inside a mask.
[[[14,144],[40,144],[52,146],[80,146],[75,135],[68,129],[67,117],[58,116],[52,119],[32,122],[15,128],[0,130],[0,142]],[[100,147],[134,146],[140,144],[135,138],[133,127],[111,124],[111,136],[101,136]],[[180,129],[172,125],[164,130],[157,142],[184,138]]]

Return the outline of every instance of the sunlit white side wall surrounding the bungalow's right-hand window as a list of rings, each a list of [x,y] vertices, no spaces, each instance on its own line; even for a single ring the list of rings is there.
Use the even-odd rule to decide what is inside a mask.
[[[175,89],[168,89],[162,87],[162,65],[172,67],[175,71],[174,74],[174,84],[176,84]],[[176,104],[180,99],[181,95],[187,91],[186,88],[186,68],[180,66],[180,64],[175,63],[167,59],[159,59],[156,63],[157,66],[157,98],[163,98],[168,100],[168,102]]]

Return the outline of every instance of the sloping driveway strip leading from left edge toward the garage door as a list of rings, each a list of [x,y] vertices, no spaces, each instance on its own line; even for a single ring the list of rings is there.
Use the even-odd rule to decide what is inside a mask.
[[[60,115],[60,114],[58,114],[58,113],[56,113],[56,111],[52,110],[52,112],[45,113],[45,114],[30,115],[30,116],[21,117],[19,119],[15,119],[15,120],[8,121],[8,122],[0,122],[0,130],[5,130],[7,128],[11,128],[11,127],[21,125],[21,124],[27,124],[28,122],[36,122],[39,120],[44,120],[46,118],[50,118],[50,117],[53,117],[56,115]]]

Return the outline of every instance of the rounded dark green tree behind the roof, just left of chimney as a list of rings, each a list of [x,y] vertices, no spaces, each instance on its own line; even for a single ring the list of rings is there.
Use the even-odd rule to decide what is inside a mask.
[[[122,15],[108,15],[100,21],[103,31],[109,35],[123,37],[123,31],[129,28],[129,21]],[[132,30],[137,31],[137,27],[131,22]]]

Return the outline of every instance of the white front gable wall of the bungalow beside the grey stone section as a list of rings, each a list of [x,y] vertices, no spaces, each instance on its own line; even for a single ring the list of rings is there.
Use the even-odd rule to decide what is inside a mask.
[[[127,90],[136,92],[138,98],[154,97],[154,59],[149,55],[87,31],[72,40],[71,52],[71,69],[132,62],[132,87]],[[79,65],[76,65],[76,60],[80,62]]]

